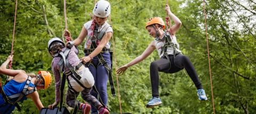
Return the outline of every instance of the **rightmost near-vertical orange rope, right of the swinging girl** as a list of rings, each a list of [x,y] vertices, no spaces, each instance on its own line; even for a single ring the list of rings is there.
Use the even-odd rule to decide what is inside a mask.
[[[208,34],[207,34],[206,11],[205,11],[205,1],[204,0],[203,0],[203,4],[204,4],[205,34],[206,34],[207,52],[208,52],[208,60],[209,60],[209,73],[210,73],[211,92],[212,92],[212,106],[213,106],[213,113],[215,114],[215,107],[214,107],[214,101],[213,101],[213,89],[212,89],[211,62],[210,62],[210,54],[209,54],[209,42],[208,42]]]

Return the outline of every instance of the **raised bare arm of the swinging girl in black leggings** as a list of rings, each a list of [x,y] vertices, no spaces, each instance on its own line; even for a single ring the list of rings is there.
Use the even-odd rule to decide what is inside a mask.
[[[168,4],[165,5],[165,11],[166,13],[172,18],[174,25],[172,25],[172,27],[169,29],[169,31],[171,31],[171,34],[175,34],[181,27],[181,21],[180,19],[175,16],[171,10]]]

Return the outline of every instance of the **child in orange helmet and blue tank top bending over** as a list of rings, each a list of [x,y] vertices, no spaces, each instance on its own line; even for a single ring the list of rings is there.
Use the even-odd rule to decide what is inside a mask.
[[[27,74],[22,70],[7,69],[13,55],[8,56],[0,67],[0,74],[12,76],[12,80],[0,86],[0,113],[11,113],[17,102],[31,98],[38,110],[44,108],[36,90],[47,89],[52,82],[51,74],[39,71],[38,75]]]

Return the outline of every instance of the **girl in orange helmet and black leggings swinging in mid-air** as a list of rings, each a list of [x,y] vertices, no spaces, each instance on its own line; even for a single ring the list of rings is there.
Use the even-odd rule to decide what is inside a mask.
[[[168,31],[164,31],[165,24],[161,17],[153,17],[146,23],[146,29],[150,36],[155,38],[146,50],[137,58],[133,59],[130,63],[119,67],[117,73],[121,74],[132,65],[141,62],[143,59],[148,57],[154,50],[157,50],[160,57],[150,64],[150,80],[152,87],[152,99],[149,100],[146,107],[153,108],[162,104],[158,93],[159,75],[158,72],[164,73],[176,73],[185,68],[189,77],[194,82],[197,88],[197,95],[199,100],[207,100],[205,91],[202,87],[201,82],[198,79],[198,75],[195,71],[193,64],[189,58],[181,54],[179,50],[179,43],[175,37],[175,33],[181,27],[181,21],[171,11],[169,5],[165,5],[165,11],[174,21]]]

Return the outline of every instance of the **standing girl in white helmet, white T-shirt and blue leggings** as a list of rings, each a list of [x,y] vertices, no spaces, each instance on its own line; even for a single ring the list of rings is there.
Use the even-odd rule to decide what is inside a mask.
[[[107,94],[107,81],[109,76],[109,82],[111,86],[112,94],[115,94],[113,80],[111,78],[111,60],[110,60],[110,38],[113,34],[113,29],[106,22],[107,17],[110,15],[110,4],[108,1],[100,0],[93,8],[93,20],[86,22],[83,25],[82,31],[78,38],[74,41],[70,41],[71,35],[66,30],[66,40],[73,43],[74,46],[80,45],[86,38],[84,45],[85,57],[81,60],[83,63],[87,63],[94,77],[94,85],[99,91],[99,97],[102,102],[107,106],[108,94]],[[112,83],[111,83],[112,82]],[[94,97],[97,98],[98,94],[94,91],[91,92]],[[92,113],[98,113],[97,109],[92,107]]]

